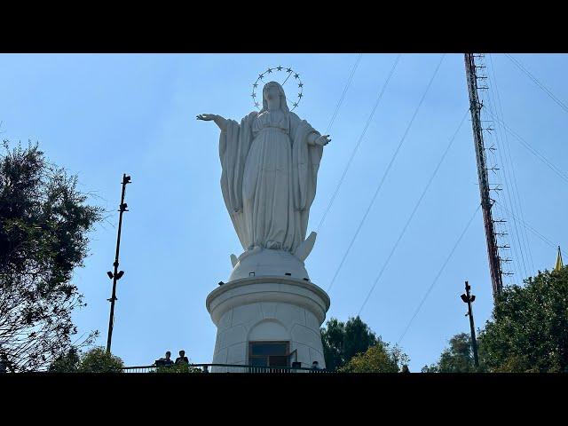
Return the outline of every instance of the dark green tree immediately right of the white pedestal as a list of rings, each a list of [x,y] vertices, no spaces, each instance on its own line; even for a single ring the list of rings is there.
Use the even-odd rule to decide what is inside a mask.
[[[367,351],[379,342],[375,333],[359,316],[343,323],[335,318],[321,328],[321,342],[326,359],[326,368],[335,371],[343,367],[358,353]]]

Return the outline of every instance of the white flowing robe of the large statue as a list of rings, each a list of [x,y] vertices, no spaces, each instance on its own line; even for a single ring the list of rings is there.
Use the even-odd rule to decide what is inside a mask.
[[[305,240],[323,148],[308,144],[310,134],[319,136],[308,122],[283,117],[282,129],[256,112],[241,124],[227,120],[219,138],[221,190],[245,250],[294,252]]]

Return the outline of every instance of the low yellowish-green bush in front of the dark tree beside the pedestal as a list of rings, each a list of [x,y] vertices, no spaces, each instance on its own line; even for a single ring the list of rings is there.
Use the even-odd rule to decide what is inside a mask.
[[[355,355],[338,369],[342,373],[398,373],[406,366],[409,359],[398,346],[389,347],[389,343],[378,340],[367,351]]]

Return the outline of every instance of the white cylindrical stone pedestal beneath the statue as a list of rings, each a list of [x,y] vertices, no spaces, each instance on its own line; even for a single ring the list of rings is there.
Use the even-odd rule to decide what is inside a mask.
[[[329,296],[312,282],[290,276],[241,278],[212,291],[206,305],[217,326],[214,364],[249,365],[250,342],[288,342],[292,360],[301,367],[318,361],[325,368],[319,327]]]

